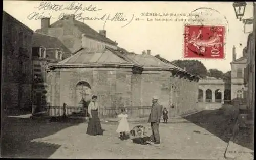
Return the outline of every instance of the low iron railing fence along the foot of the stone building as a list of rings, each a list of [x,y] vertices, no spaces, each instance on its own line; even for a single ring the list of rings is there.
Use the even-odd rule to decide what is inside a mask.
[[[150,115],[151,106],[133,106],[125,108],[129,118],[145,118]],[[116,118],[121,108],[102,106],[98,109],[99,118]],[[89,117],[87,108],[81,106],[44,106],[42,114],[50,117],[66,115],[67,117]]]

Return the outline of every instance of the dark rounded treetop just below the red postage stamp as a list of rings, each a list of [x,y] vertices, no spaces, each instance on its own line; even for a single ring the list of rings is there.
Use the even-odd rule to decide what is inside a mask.
[[[207,75],[206,67],[198,60],[174,60],[172,63],[182,69],[186,68],[188,73],[200,76],[201,78],[205,78]]]

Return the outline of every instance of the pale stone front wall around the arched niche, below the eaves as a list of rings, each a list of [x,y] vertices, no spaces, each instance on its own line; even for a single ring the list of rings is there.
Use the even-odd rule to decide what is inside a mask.
[[[77,106],[81,100],[77,84],[84,81],[91,88],[86,100],[91,100],[92,95],[97,95],[102,107],[131,106],[131,69],[69,68],[61,69],[60,74],[56,69],[51,74],[52,105],[67,103],[69,106]],[[58,79],[61,81],[57,83]]]

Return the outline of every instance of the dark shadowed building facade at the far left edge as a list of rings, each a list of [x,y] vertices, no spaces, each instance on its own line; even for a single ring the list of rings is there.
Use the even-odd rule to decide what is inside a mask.
[[[3,22],[2,107],[31,110],[33,31],[5,11]]]

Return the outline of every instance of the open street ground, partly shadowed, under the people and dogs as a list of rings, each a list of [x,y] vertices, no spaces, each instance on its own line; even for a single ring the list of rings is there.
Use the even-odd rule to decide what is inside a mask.
[[[131,140],[119,140],[115,131],[117,122],[102,122],[104,135],[88,136],[87,123],[35,123],[23,120],[24,127],[16,124],[12,130],[5,130],[9,133],[6,135],[9,139],[3,140],[6,148],[2,149],[2,153],[7,157],[73,159],[223,159],[233,126],[232,123],[223,126],[227,124],[223,124],[228,121],[226,118],[232,119],[225,112],[205,110],[186,118],[169,120],[168,124],[161,123],[160,145],[140,145]],[[130,127],[138,124],[148,126],[145,122],[131,122]],[[33,131],[29,130],[32,125]],[[150,130],[148,134],[151,134]]]

